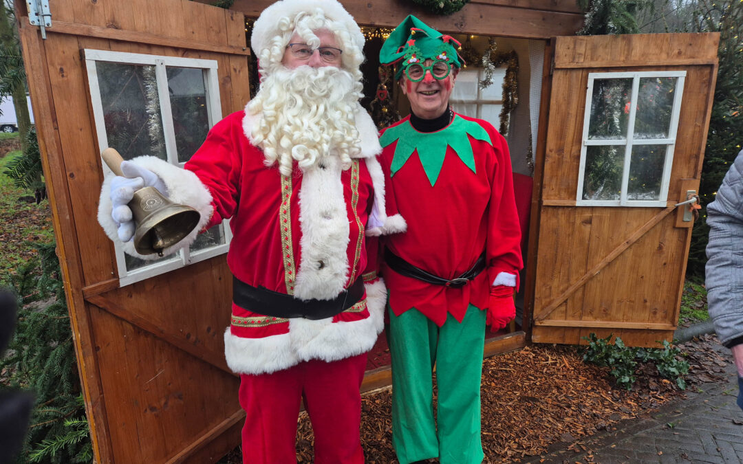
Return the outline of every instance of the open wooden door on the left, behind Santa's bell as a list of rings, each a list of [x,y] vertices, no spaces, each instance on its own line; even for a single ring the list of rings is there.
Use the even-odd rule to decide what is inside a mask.
[[[95,214],[102,125],[90,61],[92,54],[116,52],[130,53],[120,58],[125,63],[135,55],[157,56],[166,66],[207,63],[204,82],[211,87],[204,92],[213,103],[209,117],[217,119],[249,99],[244,16],[187,0],[49,3],[45,39],[30,24],[24,1],[16,0],[16,17],[96,461],[218,460],[239,443],[244,418],[239,379],[223,354],[231,293],[226,260],[216,253],[134,283],[120,280],[116,251]],[[178,88],[170,84],[164,94],[172,97]],[[186,88],[181,82],[187,96]]]

